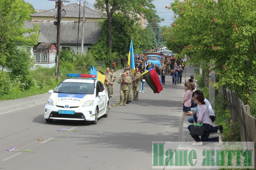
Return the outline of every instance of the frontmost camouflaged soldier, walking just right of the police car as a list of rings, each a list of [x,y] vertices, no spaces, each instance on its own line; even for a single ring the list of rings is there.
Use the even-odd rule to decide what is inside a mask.
[[[121,84],[120,85],[120,102],[121,102],[120,106],[122,106],[123,104],[124,106],[126,106],[129,83],[132,83],[130,78],[127,78],[126,75],[127,73],[124,71],[123,76],[121,76],[117,81],[118,84]],[[124,95],[124,99],[123,99],[123,95]]]

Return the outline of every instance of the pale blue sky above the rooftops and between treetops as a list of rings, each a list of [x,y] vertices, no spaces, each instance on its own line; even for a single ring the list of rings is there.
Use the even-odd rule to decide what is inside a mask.
[[[79,0],[69,0],[70,3],[79,3]],[[35,10],[50,10],[55,8],[55,1],[51,0],[25,0],[25,2],[28,2],[29,4],[32,4]],[[80,1],[81,4],[84,4],[84,0]],[[170,24],[173,22],[173,13],[171,10],[165,9],[165,6],[170,6],[170,3],[172,3],[173,0],[154,0],[153,4],[156,6],[157,15],[159,15],[161,18],[164,18],[165,21],[162,21],[159,23],[160,26],[170,26]],[[70,4],[68,2],[64,2],[64,5]],[[94,9],[95,0],[86,0],[86,6]],[[161,12],[161,13],[160,13]]]

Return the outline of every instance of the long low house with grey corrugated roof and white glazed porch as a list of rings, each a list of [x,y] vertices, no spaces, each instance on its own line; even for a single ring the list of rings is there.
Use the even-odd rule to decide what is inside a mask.
[[[51,68],[55,66],[55,52],[57,46],[57,27],[53,22],[25,21],[25,28],[33,28],[35,24],[40,27],[38,45],[34,48],[28,47],[28,51],[36,59],[36,65]],[[71,49],[81,52],[82,27],[79,30],[78,22],[61,22],[60,25],[60,49]],[[86,22],[83,29],[84,52],[92,48],[102,37],[102,32],[97,22]],[[25,35],[26,36],[26,35]]]

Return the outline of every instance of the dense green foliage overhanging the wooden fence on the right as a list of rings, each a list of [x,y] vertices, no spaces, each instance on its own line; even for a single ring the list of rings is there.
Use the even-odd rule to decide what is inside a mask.
[[[167,47],[189,55],[191,62],[210,63],[219,80],[215,86],[228,82],[247,103],[256,90],[256,75],[248,71],[256,69],[255,8],[250,0],[175,0]]]

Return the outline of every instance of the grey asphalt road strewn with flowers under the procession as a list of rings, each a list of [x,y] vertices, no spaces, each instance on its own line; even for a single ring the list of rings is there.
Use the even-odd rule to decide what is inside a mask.
[[[120,71],[121,72],[121,71]],[[119,72],[117,72],[119,73]],[[116,83],[111,104],[117,103]],[[184,81],[172,85],[166,76],[160,94],[145,85],[139,101],[112,107],[96,125],[85,122],[46,123],[44,104],[0,114],[0,167],[5,169],[151,169],[152,142],[181,141]],[[60,132],[58,128],[81,132]],[[37,138],[61,141],[37,141]],[[36,152],[8,152],[6,149]]]

